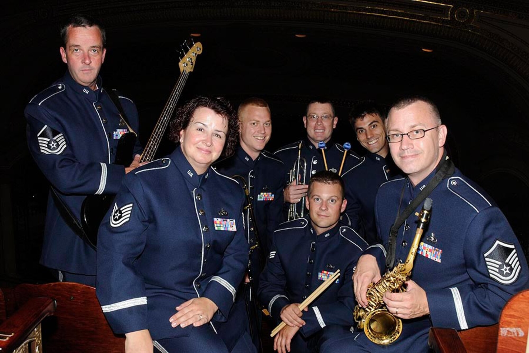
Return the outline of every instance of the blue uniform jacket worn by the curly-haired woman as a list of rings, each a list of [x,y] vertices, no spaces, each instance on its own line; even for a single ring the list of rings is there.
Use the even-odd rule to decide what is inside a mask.
[[[187,337],[193,325],[169,317],[196,297],[226,321],[248,263],[243,201],[238,183],[212,168],[197,175],[179,146],[123,178],[97,243],[96,293],[114,332]]]

